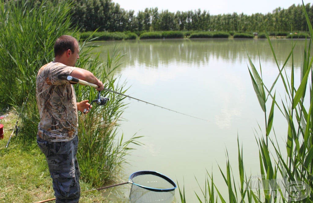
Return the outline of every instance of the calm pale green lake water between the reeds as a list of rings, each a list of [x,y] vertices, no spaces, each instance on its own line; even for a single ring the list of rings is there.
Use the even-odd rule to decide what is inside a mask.
[[[294,51],[296,84],[304,42],[299,40]],[[125,139],[134,134],[144,136],[139,141],[145,144],[133,146],[136,150],[127,158],[130,165],[124,169],[126,180],[136,171],[157,171],[184,186],[188,202],[198,202],[194,192],[203,196],[200,188],[204,188],[208,171],[213,172],[222,194],[227,194],[218,165],[225,172],[228,153],[234,177],[238,177],[237,138],[243,147],[246,173],[260,174],[255,137],[261,136],[259,126],[264,132],[264,113],[251,83],[246,51],[258,69],[260,60],[264,82],[270,87],[278,68],[267,40],[175,39],[98,44],[103,46],[104,58],[115,45],[125,54],[116,75],[127,82],[126,94],[204,119],[126,99],[129,104],[119,132]],[[291,50],[291,40],[272,40],[272,44],[282,67]],[[291,62],[285,70],[290,76]],[[276,98],[284,96],[278,82]],[[274,118],[275,133],[283,148],[287,124],[278,110]],[[175,196],[179,201],[178,189]]]

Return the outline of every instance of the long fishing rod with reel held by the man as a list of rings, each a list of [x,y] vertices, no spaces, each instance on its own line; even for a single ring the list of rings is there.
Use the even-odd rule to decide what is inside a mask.
[[[80,79],[78,79],[78,78],[76,78],[76,77],[68,76],[68,77],[67,77],[67,80],[68,80],[68,81],[72,81],[72,82],[74,82],[74,83],[80,83],[80,84],[82,84],[82,85],[88,85],[88,86],[90,86],[90,87],[99,88],[99,86],[96,85],[96,84],[89,83],[89,82],[87,82],[87,81],[85,81],[85,80],[80,80]],[[147,102],[147,101],[144,101],[144,100],[141,100],[141,99],[137,99],[137,98],[135,98],[135,97],[131,97],[131,96],[126,95],[126,94],[123,94],[123,93],[115,92],[115,91],[110,90],[110,89],[107,89],[107,88],[104,88],[104,90],[106,90],[106,91],[108,91],[108,92],[112,92],[112,93],[116,93],[116,94],[122,95],[122,96],[124,96],[124,97],[128,97],[128,98],[130,98],[130,99],[135,99],[135,100],[137,100],[137,101],[141,101],[141,102],[144,102],[144,103],[146,103],[146,104],[151,104],[151,105],[153,105],[153,106],[157,106],[157,107],[160,107],[160,108],[162,108],[162,109],[166,109],[166,110],[169,110],[169,111],[178,113],[178,114],[186,115],[186,116],[189,116],[189,117],[192,117],[192,118],[195,118],[195,119],[200,119],[200,120],[208,121],[208,120],[206,120],[206,119],[202,119],[202,118],[199,118],[199,117],[196,117],[196,116],[188,115],[188,114],[185,114],[185,113],[182,113],[182,112],[179,112],[179,111],[175,111],[175,110],[172,110],[172,109],[168,109],[168,108],[165,108],[165,107],[163,107],[163,106],[156,105],[156,104],[152,104],[152,103],[150,103],[150,102]],[[97,102],[96,102],[97,104],[99,104],[99,103],[101,104],[101,98],[100,98],[100,100],[99,100],[99,98],[100,98],[100,91],[99,91],[98,99],[97,99]],[[102,99],[106,99],[106,98],[103,98],[103,97],[102,97]],[[109,99],[107,99],[107,101],[108,101],[108,100],[109,100]],[[95,101],[95,100],[94,100],[94,101]],[[93,101],[93,102],[94,102],[94,101]],[[106,102],[107,102],[107,101],[106,101]],[[99,104],[99,105],[100,105],[100,104]],[[105,103],[105,104],[106,104],[106,103]],[[104,104],[104,105],[105,105],[105,104]],[[90,108],[89,108],[89,109],[90,109]],[[84,111],[85,111],[85,110],[84,110]],[[87,112],[87,110],[86,110],[86,112]]]

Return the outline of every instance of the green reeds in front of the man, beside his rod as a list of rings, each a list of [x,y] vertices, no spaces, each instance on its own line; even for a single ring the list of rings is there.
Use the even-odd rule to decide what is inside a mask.
[[[81,57],[85,64],[84,67],[93,72],[104,82],[108,89],[120,93],[126,93],[123,84],[119,84],[118,79],[114,76],[114,71],[119,67],[119,60],[122,57],[118,52],[108,53],[107,61],[100,60],[100,53],[93,53],[92,45],[86,46]],[[86,66],[87,65],[87,66]],[[86,86],[76,86],[76,96],[80,100],[97,98],[95,88]],[[140,136],[133,136],[131,139],[124,141],[123,135],[118,138],[117,126],[119,125],[120,116],[126,108],[123,103],[125,97],[110,93],[101,92],[102,96],[109,98],[106,106],[93,104],[93,108],[86,115],[80,115],[79,120],[79,152],[80,169],[85,174],[86,182],[95,186],[102,186],[105,181],[111,180],[121,170],[121,165],[127,163],[126,155],[133,149],[130,144],[140,145],[137,140]]]

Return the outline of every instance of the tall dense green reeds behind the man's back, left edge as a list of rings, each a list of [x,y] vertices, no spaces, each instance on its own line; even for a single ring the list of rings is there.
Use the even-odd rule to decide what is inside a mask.
[[[75,36],[67,16],[69,6],[69,1],[0,3],[0,68],[3,73],[0,74],[0,105],[13,106],[19,113],[28,97],[22,115],[25,127],[21,131],[21,142],[33,140],[37,132],[35,81],[38,69],[53,60],[53,45],[58,36]]]

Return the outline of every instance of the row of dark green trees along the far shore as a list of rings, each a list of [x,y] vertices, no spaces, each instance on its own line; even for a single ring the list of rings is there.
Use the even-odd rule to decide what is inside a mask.
[[[19,0],[9,0],[18,2]],[[43,1],[57,3],[62,0],[33,0],[36,5]],[[6,2],[6,1],[5,1]],[[302,5],[291,5],[289,8],[276,8],[271,13],[227,13],[211,15],[201,9],[190,11],[158,10],[146,8],[135,14],[134,10],[125,10],[112,0],[73,0],[71,14],[73,26],[78,25],[82,31],[228,31],[228,32],[291,32],[306,31],[307,24]],[[313,4],[305,5],[310,21],[313,19]]]

